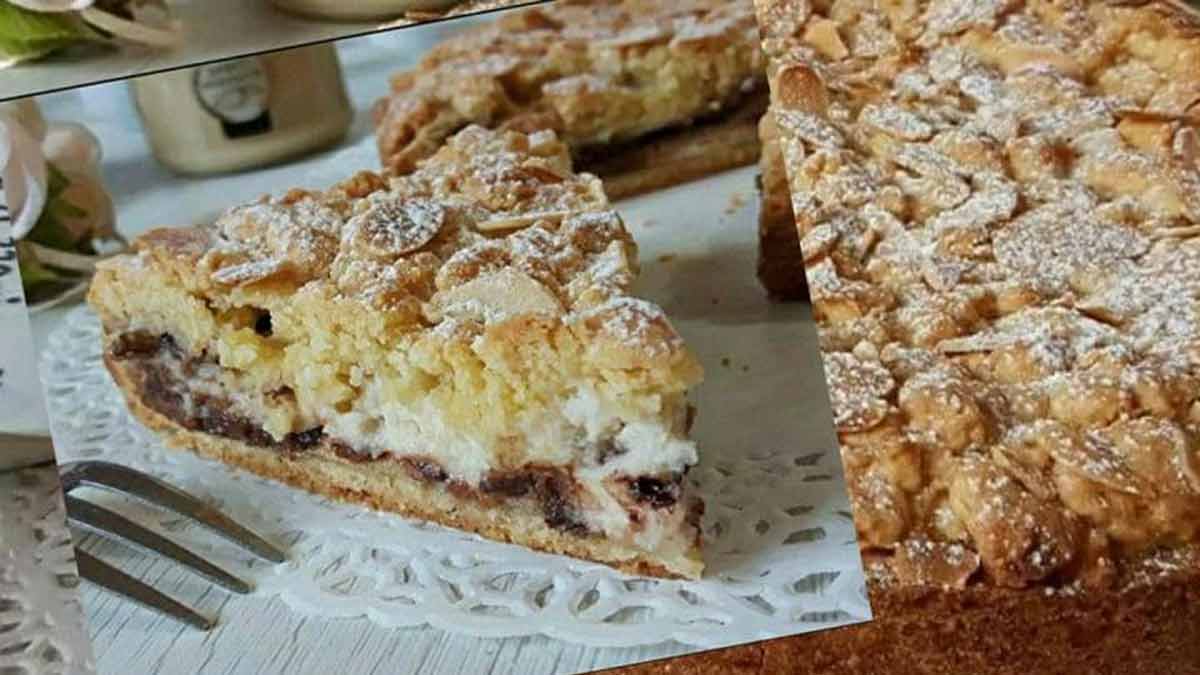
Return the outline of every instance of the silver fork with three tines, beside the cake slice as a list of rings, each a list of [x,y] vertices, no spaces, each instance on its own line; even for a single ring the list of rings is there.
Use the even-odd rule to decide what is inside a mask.
[[[82,486],[100,488],[136,497],[145,503],[190,518],[220,537],[270,562],[284,562],[287,556],[258,534],[234,522],[229,516],[152,476],[108,461],[74,461],[59,467],[67,521],[98,534],[112,534],[137,549],[179,562],[196,574],[235,593],[248,593],[250,584],[229,574],[179,544],[151,532],[124,515],[80,500],[71,492]],[[76,546],[79,577],[151,610],[166,614],[202,631],[216,625],[179,601],[138,581],[133,577]]]

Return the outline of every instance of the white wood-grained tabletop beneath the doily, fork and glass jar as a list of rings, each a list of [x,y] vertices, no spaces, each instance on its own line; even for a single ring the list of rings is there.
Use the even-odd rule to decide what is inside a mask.
[[[410,61],[445,28],[427,26],[359,38],[344,46],[343,65],[350,97],[360,110],[352,137],[370,133],[365,113],[384,89],[386,73]],[[368,44],[371,48],[368,48]],[[388,49],[390,44],[390,50]],[[85,121],[104,142],[130,138],[136,119],[124,85],[102,85],[43,101],[48,118]],[[121,117],[121,115],[125,117]],[[179,214],[212,210],[221,203],[257,197],[271,185],[266,169],[253,174],[214,178],[205,190],[182,190],[187,179],[166,173],[149,159],[144,143],[108,144],[106,175],[115,193],[119,227],[126,235],[156,225],[179,225],[162,204]],[[320,157],[308,161],[319,162]],[[191,181],[194,183],[194,181]],[[277,185],[276,185],[277,187]],[[211,195],[224,195],[212,202]],[[170,201],[166,201],[166,196]],[[34,317],[38,348],[70,307]],[[548,638],[479,639],[434,628],[388,629],[366,620],[319,620],[292,613],[277,599],[232,596],[178,566],[97,540],[84,545],[118,563],[130,574],[160,590],[221,617],[210,633],[160,617],[89,585],[82,587],[94,641],[97,670],[107,674],[505,674],[548,675],[581,673],[695,651],[667,643],[637,649],[589,649]]]

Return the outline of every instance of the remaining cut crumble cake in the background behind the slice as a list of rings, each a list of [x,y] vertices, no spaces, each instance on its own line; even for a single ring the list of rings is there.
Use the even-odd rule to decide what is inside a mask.
[[[468,124],[548,129],[623,197],[751,163],[757,138],[743,118],[764,80],[749,1],[568,0],[438,44],[391,89],[376,120],[395,172]],[[704,127],[716,131],[689,147],[686,132]],[[629,145],[672,130],[676,143]]]

